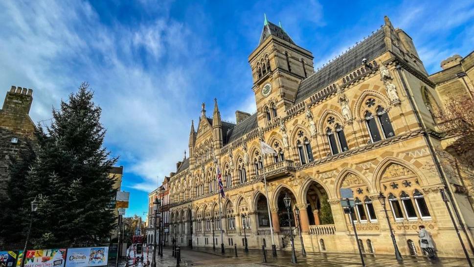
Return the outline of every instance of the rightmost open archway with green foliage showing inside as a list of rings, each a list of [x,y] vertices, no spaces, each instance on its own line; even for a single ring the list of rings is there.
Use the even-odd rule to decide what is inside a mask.
[[[331,205],[328,203],[328,194],[324,188],[312,181],[306,191],[306,208],[310,225],[334,224]]]

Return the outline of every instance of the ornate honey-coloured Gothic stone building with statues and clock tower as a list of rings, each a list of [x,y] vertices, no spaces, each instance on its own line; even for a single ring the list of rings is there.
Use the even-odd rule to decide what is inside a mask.
[[[270,247],[265,170],[278,249],[289,248],[297,208],[307,251],[356,252],[359,242],[364,253],[392,254],[382,193],[402,254],[422,255],[416,231],[425,225],[439,256],[462,256],[440,190],[448,187],[453,197],[465,243],[474,227],[473,192],[438,164],[436,151],[449,142],[433,114],[447,94],[472,97],[474,56],[448,59],[429,76],[410,36],[385,17],[381,28],[316,72],[313,58],[265,20],[248,57],[257,112],[237,111],[233,124],[221,120],[217,100],[212,118],[203,104],[197,131],[191,124],[189,157],[169,181],[170,234],[179,245],[219,247],[222,229],[225,246],[241,247],[245,235],[249,247]],[[260,139],[277,154],[262,155]],[[226,191],[221,220],[217,167]],[[358,241],[341,188],[354,194]],[[294,243],[299,249],[299,238]]]

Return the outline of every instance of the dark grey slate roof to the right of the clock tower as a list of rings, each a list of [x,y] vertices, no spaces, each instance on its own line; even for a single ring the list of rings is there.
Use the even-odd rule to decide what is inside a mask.
[[[329,86],[344,75],[362,66],[362,59],[368,62],[386,51],[384,29],[380,28],[361,43],[331,61],[303,81],[298,89],[294,104],[311,97],[317,91]]]

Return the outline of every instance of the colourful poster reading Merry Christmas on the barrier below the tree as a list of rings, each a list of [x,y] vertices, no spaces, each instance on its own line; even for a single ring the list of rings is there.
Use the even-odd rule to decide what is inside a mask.
[[[26,251],[24,267],[64,267],[66,248]]]

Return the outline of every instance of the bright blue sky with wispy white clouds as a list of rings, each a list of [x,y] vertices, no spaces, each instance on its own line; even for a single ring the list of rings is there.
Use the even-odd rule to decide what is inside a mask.
[[[223,119],[255,111],[248,55],[263,14],[281,21],[321,66],[388,15],[414,40],[429,73],[474,49],[473,1],[0,1],[0,89],[33,88],[33,121],[51,118],[82,81],[95,91],[106,146],[124,166],[127,216],[187,149],[201,102]]]

